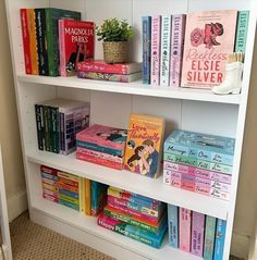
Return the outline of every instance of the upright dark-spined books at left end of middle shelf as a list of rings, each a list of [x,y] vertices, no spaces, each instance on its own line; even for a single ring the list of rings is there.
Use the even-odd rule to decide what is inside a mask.
[[[89,125],[90,106],[69,99],[35,104],[38,149],[61,154],[75,150],[75,135]]]

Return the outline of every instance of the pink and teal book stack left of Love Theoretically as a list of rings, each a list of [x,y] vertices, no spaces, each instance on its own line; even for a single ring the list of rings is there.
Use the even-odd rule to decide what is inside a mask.
[[[122,170],[126,135],[126,129],[95,124],[76,135],[76,158]]]

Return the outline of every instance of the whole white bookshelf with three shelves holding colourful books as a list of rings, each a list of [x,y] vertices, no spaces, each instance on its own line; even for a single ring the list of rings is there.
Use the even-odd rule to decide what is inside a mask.
[[[240,162],[244,137],[247,96],[252,72],[257,5],[255,0],[5,0],[13,61],[23,159],[26,173],[29,214],[34,222],[91,246],[118,260],[194,260],[199,259],[168,246],[154,249],[97,226],[96,219],[84,216],[65,207],[41,198],[39,165],[46,164],[98,182],[138,193],[164,202],[178,205],[227,220],[223,260],[229,259],[232,236]],[[83,17],[99,24],[106,17],[126,18],[135,28],[131,55],[140,61],[140,17],[143,15],[188,13],[196,10],[250,10],[247,52],[241,95],[216,96],[210,90],[169,88],[143,85],[96,82],[76,77],[44,77],[25,75],[21,8],[56,7],[81,11]],[[101,58],[101,45],[96,45],[96,58]],[[90,102],[90,122],[127,127],[131,112],[160,115],[166,119],[164,137],[174,128],[234,137],[235,156],[231,198],[222,201],[162,184],[136,174],[115,171],[68,157],[37,150],[34,104],[50,98],[69,97]]]

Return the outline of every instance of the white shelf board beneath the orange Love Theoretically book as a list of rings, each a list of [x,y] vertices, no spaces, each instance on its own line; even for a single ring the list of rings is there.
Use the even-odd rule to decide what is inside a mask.
[[[171,187],[162,183],[161,176],[154,179],[128,171],[118,171],[88,163],[77,160],[75,152],[70,156],[61,156],[37,150],[26,156],[29,162],[46,164],[50,168],[126,189],[170,205],[227,220],[229,201]]]

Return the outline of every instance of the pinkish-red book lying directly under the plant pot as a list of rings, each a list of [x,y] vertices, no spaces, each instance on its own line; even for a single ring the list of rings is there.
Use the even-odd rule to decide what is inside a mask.
[[[76,70],[82,72],[101,72],[127,75],[142,71],[140,62],[106,63],[103,60],[82,61],[76,63]]]

